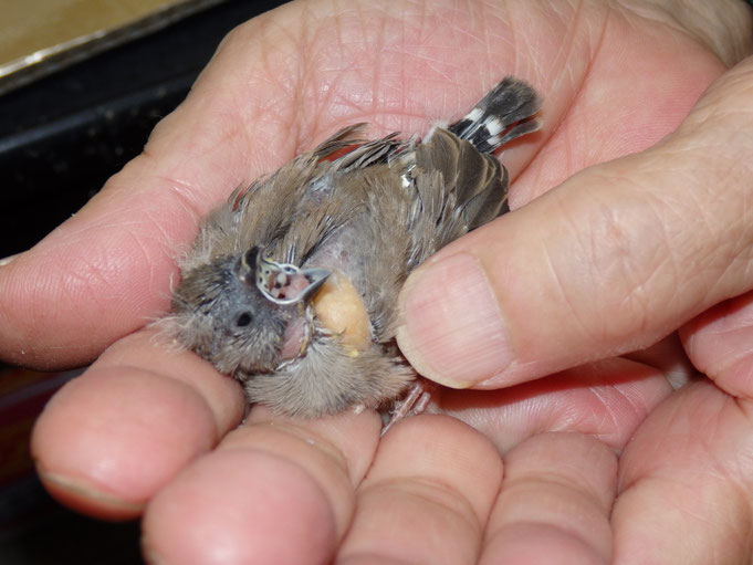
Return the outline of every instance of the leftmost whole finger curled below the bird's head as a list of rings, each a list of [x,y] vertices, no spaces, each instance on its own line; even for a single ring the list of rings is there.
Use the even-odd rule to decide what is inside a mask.
[[[52,398],[34,426],[32,456],[65,504],[133,517],[238,425],[243,402],[238,383],[191,353],[156,347],[142,332]]]

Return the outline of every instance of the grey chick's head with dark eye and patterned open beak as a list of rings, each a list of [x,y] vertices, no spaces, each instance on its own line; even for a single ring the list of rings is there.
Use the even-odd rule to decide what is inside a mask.
[[[253,247],[184,273],[170,316],[178,341],[221,373],[273,372],[291,347],[289,328],[305,317],[328,271],[278,263]]]

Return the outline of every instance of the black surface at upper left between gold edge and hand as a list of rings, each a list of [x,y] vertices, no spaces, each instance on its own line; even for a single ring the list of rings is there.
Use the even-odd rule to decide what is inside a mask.
[[[0,258],[79,210],[140,153],[224,34],[281,3],[230,0],[0,96]]]

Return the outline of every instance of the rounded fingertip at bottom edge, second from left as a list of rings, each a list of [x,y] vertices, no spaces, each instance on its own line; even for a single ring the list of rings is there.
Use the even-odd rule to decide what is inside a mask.
[[[269,452],[221,449],[147,508],[144,546],[157,563],[328,563],[335,516],[316,480]]]

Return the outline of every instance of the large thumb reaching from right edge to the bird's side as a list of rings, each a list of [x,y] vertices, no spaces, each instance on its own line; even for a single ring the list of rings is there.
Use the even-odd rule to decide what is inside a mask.
[[[438,383],[496,388],[647,347],[753,289],[753,59],[659,145],[572,177],[441,250],[398,344]]]

